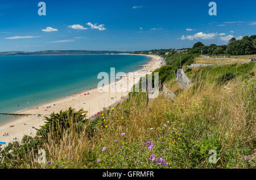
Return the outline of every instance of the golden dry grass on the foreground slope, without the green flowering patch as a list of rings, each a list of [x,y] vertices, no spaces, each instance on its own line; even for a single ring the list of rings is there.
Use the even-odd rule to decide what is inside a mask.
[[[242,168],[243,165],[238,163],[227,166],[225,152],[236,151],[238,145],[247,144],[251,149],[255,145],[253,144],[256,134],[255,114],[248,122],[246,108],[242,106],[244,101],[242,88],[236,89],[236,86],[242,87],[243,83],[239,79],[223,86],[218,86],[217,83],[198,82],[197,89],[181,94],[175,102],[160,95],[159,98],[147,104],[144,94],[135,95],[128,103],[123,103],[112,110],[110,115],[104,115],[102,119],[106,119],[105,124],[108,127],[98,125],[97,132],[92,138],[88,137],[86,131],[82,135],[77,135],[75,132],[69,135],[66,133],[59,142],[52,140],[49,136],[49,143],[44,145],[49,161],[61,162],[64,168],[97,168],[97,158],[105,157],[110,158],[111,161],[104,159],[106,163],[104,168],[148,168],[150,166],[135,165],[136,159],[128,160],[128,158],[136,157],[137,151],[143,150],[137,146],[136,149],[134,144],[144,146],[145,141],[157,141],[163,136],[166,136],[162,138],[163,140],[172,141],[168,139],[168,133],[174,131],[183,133],[184,129],[187,129],[189,135],[182,137],[184,140],[193,139],[200,143],[205,140],[205,137],[216,138],[221,146],[218,151],[220,153],[219,163],[211,166],[205,159],[196,166],[191,166],[189,162],[192,160],[189,158],[193,157],[183,154],[185,150],[180,149],[184,152],[177,154],[184,157],[176,161],[183,162],[175,162],[173,154],[166,157],[175,168]],[[224,86],[231,90],[229,91]],[[231,94],[233,94],[232,98],[230,98]],[[166,116],[167,112],[174,114]],[[123,120],[122,116],[125,117]],[[170,128],[175,129],[174,131],[163,129],[163,124],[167,124],[167,120],[172,122]],[[126,133],[125,140],[120,136],[122,132]],[[119,146],[122,145],[130,149],[128,154],[119,157],[117,152],[120,149]],[[101,151],[103,146],[106,146],[108,152]],[[175,144],[169,145],[168,148],[179,149]],[[66,162],[69,156],[75,157],[72,164]],[[236,154],[236,158],[238,161],[243,161],[244,155]]]

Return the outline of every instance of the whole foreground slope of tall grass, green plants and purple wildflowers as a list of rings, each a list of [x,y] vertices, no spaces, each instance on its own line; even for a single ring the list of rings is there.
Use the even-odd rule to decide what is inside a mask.
[[[47,164],[32,151],[9,168],[254,168],[255,78],[212,76],[191,74],[195,86],[174,100],[130,95],[82,130],[48,133]]]

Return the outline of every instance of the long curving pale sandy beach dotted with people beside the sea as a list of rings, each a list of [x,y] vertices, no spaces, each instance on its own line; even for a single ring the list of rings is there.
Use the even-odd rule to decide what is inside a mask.
[[[6,142],[6,144],[12,141],[21,141],[24,135],[35,136],[35,128],[39,128],[44,124],[44,116],[49,115],[52,112],[59,112],[60,110],[67,110],[69,107],[73,107],[76,110],[84,108],[85,111],[88,111],[88,117],[97,114],[97,112],[102,111],[104,107],[113,106],[122,99],[126,98],[128,91],[121,91],[122,85],[129,82],[129,85],[134,85],[138,82],[135,77],[136,74],[150,74],[160,66],[164,65],[163,59],[159,56],[147,55],[151,57],[150,62],[142,67],[142,69],[133,72],[133,75],[130,76],[127,73],[126,77],[123,77],[115,83],[110,83],[101,88],[95,88],[91,90],[86,90],[81,93],[69,95],[56,101],[50,103],[42,104],[38,107],[32,107],[28,110],[18,112],[19,114],[35,114],[30,116],[19,116],[18,118],[11,120],[0,126],[0,141]],[[117,72],[115,72],[117,73]],[[138,76],[137,76],[138,77]],[[105,88],[114,87],[115,92],[105,92]],[[128,87],[128,85],[127,85]],[[130,89],[129,89],[130,90]],[[118,92],[119,91],[119,92]],[[121,92],[120,92],[121,91]],[[85,95],[88,94],[89,95]],[[37,114],[41,114],[41,117],[38,117]],[[13,126],[13,127],[11,127]],[[8,133],[9,136],[3,136],[4,133]],[[3,147],[3,146],[2,146]]]

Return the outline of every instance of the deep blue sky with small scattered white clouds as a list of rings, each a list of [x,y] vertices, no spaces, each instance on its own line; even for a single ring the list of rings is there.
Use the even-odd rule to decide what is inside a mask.
[[[256,34],[255,0],[212,1],[216,16],[208,0],[1,0],[0,51],[186,48]]]

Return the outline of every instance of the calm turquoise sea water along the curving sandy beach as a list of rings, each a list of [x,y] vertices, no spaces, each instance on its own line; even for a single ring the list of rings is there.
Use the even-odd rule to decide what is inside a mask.
[[[146,56],[0,56],[0,112],[16,112],[97,86],[100,72],[133,72]],[[19,104],[19,107],[18,107]],[[0,115],[0,123],[13,117]]]

